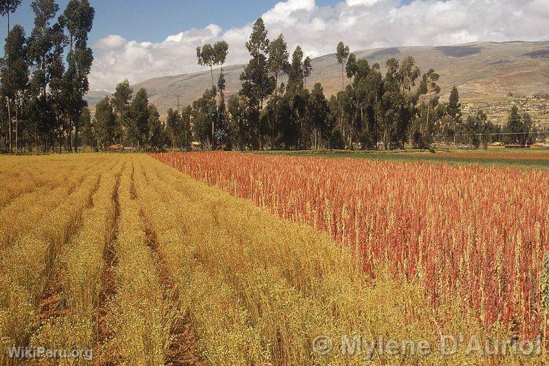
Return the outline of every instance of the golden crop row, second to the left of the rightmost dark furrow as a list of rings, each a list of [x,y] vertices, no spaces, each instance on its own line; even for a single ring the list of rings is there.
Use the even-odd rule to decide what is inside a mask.
[[[89,207],[85,209],[80,230],[65,246],[56,262],[49,287],[41,301],[41,329],[32,345],[49,349],[95,349],[98,334],[98,306],[101,275],[105,268],[103,251],[109,242],[116,219],[115,195],[123,161],[105,171]],[[82,360],[79,360],[82,361]],[[55,360],[67,363],[69,360]]]

